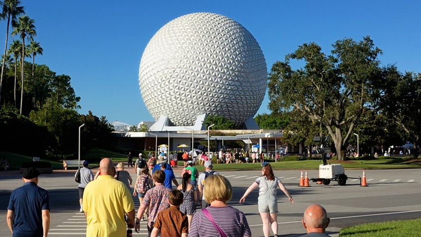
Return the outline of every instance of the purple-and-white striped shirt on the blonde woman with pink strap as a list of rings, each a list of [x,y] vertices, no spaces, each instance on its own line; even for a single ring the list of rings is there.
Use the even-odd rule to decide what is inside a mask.
[[[207,208],[216,225],[227,237],[251,236],[249,224],[243,212],[233,207],[208,207]],[[193,216],[189,230],[189,237],[220,237],[221,235],[200,211]]]

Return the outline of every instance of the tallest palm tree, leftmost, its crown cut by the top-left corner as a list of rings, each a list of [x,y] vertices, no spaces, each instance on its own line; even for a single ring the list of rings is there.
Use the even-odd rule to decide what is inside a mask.
[[[6,54],[7,50],[7,40],[9,38],[9,25],[10,20],[12,21],[12,26],[16,23],[16,16],[25,13],[23,10],[23,6],[18,6],[20,4],[20,0],[4,0],[1,1],[1,6],[3,8],[1,13],[1,18],[7,18],[7,26],[6,26],[6,42],[4,43],[4,55]],[[1,76],[0,76],[0,101],[1,101],[1,87],[3,84],[3,71],[4,71],[4,58],[3,64],[1,65]]]

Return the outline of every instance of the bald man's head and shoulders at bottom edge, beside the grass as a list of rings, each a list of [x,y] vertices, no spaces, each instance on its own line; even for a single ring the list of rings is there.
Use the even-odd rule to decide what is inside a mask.
[[[329,237],[326,235],[326,228],[329,226],[330,219],[326,210],[318,205],[312,204],[304,212],[304,218],[301,220],[307,235],[302,237]]]

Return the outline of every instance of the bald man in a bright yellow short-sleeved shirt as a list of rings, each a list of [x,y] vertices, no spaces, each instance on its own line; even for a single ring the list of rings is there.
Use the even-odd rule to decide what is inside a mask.
[[[127,186],[114,179],[113,162],[103,158],[100,175],[83,192],[83,212],[87,221],[86,237],[126,236],[135,227],[135,204]]]

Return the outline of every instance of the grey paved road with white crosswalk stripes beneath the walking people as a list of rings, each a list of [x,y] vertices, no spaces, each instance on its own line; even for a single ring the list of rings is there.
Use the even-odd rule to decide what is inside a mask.
[[[133,168],[126,168],[133,172]],[[178,173],[177,173],[178,172]],[[180,170],[176,171],[179,176]],[[86,222],[83,214],[78,213],[78,193],[73,181],[73,171],[54,171],[42,174],[39,185],[46,188],[51,199],[51,227],[49,236],[85,236]],[[317,177],[317,170],[309,170],[309,178]],[[249,195],[246,203],[238,200],[260,175],[260,171],[221,171],[234,187],[234,195],[229,203],[247,215],[247,220],[254,237],[262,236],[262,224],[257,212],[257,190]],[[310,187],[298,187],[300,171],[275,171],[293,196],[295,203],[288,203],[279,190],[278,217],[279,235],[296,237],[305,233],[301,226],[301,217],[311,203],[323,205],[332,219],[327,232],[332,237],[339,236],[339,230],[359,223],[388,220],[421,218],[421,169],[366,170],[367,187],[359,186],[359,179],[349,179],[347,185],[339,186],[336,182],[319,185],[310,182]],[[362,176],[362,170],[346,170],[349,177]],[[21,174],[15,171],[0,172],[0,216],[5,219],[10,191],[22,185]],[[139,200],[135,200],[136,208]],[[3,219],[3,220],[4,220]],[[144,236],[146,228],[141,224],[140,234]],[[8,236],[6,223],[0,222],[0,236]]]

